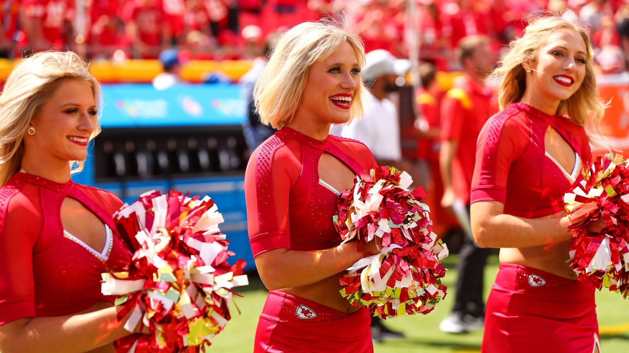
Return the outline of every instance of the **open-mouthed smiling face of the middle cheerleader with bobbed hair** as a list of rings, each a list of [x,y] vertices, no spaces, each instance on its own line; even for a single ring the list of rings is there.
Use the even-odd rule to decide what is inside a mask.
[[[295,118],[317,125],[349,121],[359,85],[360,66],[352,46],[345,42],[330,57],[310,67]]]

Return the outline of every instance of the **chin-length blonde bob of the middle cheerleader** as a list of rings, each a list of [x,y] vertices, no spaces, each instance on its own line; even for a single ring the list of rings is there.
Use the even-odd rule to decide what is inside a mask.
[[[347,30],[347,21],[343,17],[304,22],[286,31],[253,89],[255,107],[262,123],[281,129],[290,122],[301,102],[310,67],[330,57],[345,42],[352,46],[360,67],[363,67],[364,45],[358,35]],[[360,79],[352,97],[350,119],[362,117],[364,97],[367,97],[367,90]]]

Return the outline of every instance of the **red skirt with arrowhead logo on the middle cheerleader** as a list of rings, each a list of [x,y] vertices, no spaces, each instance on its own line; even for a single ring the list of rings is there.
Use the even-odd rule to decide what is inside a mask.
[[[254,353],[373,352],[369,310],[343,313],[281,291],[269,291]]]

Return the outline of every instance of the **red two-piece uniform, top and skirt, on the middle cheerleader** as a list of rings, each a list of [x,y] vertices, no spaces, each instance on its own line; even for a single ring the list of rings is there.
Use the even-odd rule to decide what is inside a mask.
[[[341,243],[332,222],[338,191],[318,175],[323,153],[337,157],[356,175],[376,167],[369,149],[358,141],[331,135],[320,141],[287,127],[253,153],[245,197],[254,257],[274,249],[315,251]],[[372,352],[369,323],[366,309],[348,314],[270,291],[254,352]]]

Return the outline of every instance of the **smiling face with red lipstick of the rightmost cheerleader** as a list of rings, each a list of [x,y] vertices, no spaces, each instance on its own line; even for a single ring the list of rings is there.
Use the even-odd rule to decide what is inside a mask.
[[[528,65],[533,72],[526,74],[527,89],[531,87],[539,97],[557,104],[568,99],[586,75],[586,52],[586,43],[576,31],[551,33],[540,46],[537,61]]]

